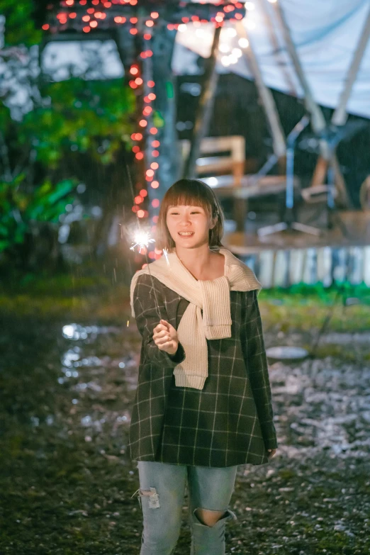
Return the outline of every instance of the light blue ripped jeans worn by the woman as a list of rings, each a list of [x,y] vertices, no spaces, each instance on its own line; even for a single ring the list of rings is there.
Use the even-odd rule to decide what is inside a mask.
[[[237,466],[215,468],[138,461],[138,469],[140,488],[135,493],[139,492],[144,517],[140,555],[174,553],[186,484],[191,555],[225,555],[225,523],[237,520],[235,513],[228,509]],[[198,509],[208,512],[198,512]],[[208,523],[213,520],[213,525],[202,521],[205,514]]]

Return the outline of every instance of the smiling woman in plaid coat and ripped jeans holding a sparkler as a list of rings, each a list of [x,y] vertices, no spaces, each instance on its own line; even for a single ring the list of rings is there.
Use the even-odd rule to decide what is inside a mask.
[[[129,440],[140,555],[174,552],[186,484],[191,555],[223,555],[237,466],[265,464],[277,447],[261,285],[223,248],[223,212],[202,181],[168,189],[157,229],[167,256],[136,272],[130,288],[142,335]]]

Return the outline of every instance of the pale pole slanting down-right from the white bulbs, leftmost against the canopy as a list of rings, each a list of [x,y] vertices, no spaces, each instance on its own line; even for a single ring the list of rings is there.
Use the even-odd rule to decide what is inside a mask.
[[[248,60],[250,60],[250,67],[252,69],[254,81],[256,82],[256,86],[259,92],[259,98],[262,101],[264,112],[269,122],[274,154],[279,160],[286,156],[286,139],[279,118],[279,113],[276,108],[276,103],[270,89],[264,84],[264,80],[262,79],[262,72],[259,68],[258,60],[254,53],[250,38],[247,35],[247,30],[245,29],[245,26],[243,25],[242,21],[237,21],[235,27],[239,37],[247,39],[249,43],[249,47],[241,48],[242,50],[245,50]]]

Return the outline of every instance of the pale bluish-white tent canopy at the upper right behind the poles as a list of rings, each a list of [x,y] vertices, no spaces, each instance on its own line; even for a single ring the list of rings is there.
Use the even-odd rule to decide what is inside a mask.
[[[366,17],[369,0],[278,0],[305,77],[313,97],[322,106],[335,108],[344,87]],[[264,83],[271,89],[293,96],[303,96],[291,59],[286,51],[274,6],[267,0],[246,3],[247,30]],[[270,17],[267,17],[269,13]],[[192,72],[191,60],[184,48],[203,57],[210,54],[213,36],[211,23],[199,28],[194,23],[180,26],[173,59],[174,72]],[[242,54],[240,37],[232,23],[221,33],[218,69],[252,79],[247,55]],[[226,67],[225,67],[226,65]],[[370,118],[370,41],[361,60],[356,82],[347,103],[348,113]]]

